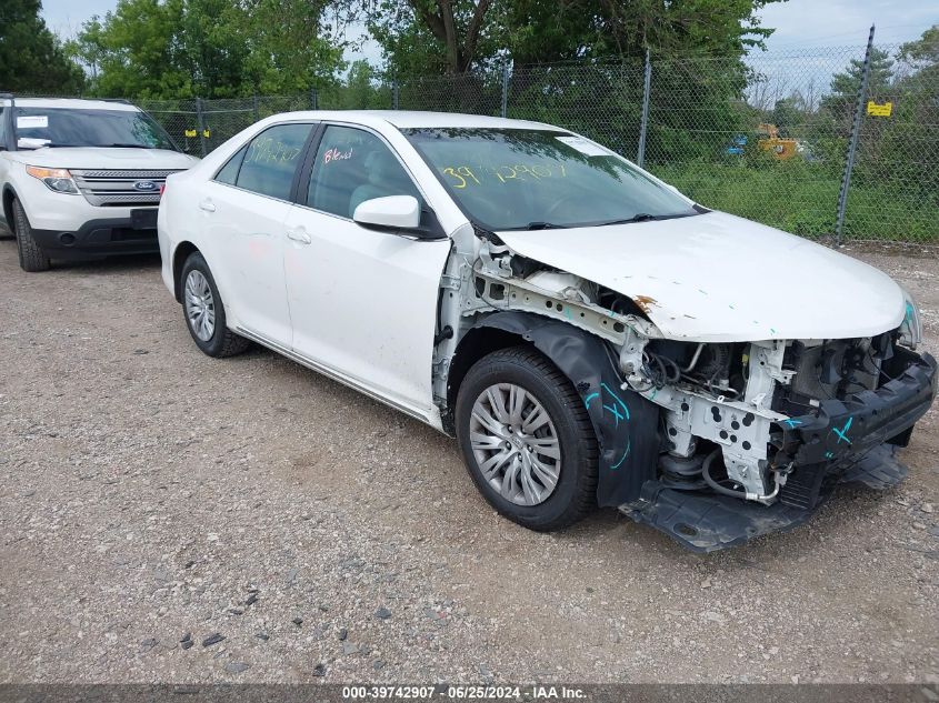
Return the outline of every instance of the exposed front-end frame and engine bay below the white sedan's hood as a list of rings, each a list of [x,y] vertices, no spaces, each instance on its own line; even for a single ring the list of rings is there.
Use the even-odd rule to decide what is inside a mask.
[[[839,480],[903,478],[891,448],[906,445],[936,385],[935,361],[913,352],[917,321],[859,339],[665,339],[652,299],[515,254],[491,232],[453,239],[434,340],[441,414],[462,341],[486,325],[523,337],[591,412],[600,505],[709,551],[798,524]],[[582,348],[557,341],[566,325],[587,333]]]

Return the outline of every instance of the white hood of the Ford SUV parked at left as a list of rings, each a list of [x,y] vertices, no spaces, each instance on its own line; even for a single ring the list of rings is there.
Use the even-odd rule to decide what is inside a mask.
[[[11,152],[17,161],[50,169],[189,169],[194,157],[168,149],[106,149],[56,147]]]

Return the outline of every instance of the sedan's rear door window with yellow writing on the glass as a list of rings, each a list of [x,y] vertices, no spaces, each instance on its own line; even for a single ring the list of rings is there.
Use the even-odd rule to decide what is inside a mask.
[[[278,124],[248,144],[236,185],[262,195],[290,198],[293,173],[312,124]]]

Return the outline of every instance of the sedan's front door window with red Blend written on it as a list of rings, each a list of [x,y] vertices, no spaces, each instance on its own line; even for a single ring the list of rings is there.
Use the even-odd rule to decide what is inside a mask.
[[[351,127],[326,128],[307,190],[307,204],[351,218],[356,208],[372,198],[413,195],[413,181],[378,137]]]

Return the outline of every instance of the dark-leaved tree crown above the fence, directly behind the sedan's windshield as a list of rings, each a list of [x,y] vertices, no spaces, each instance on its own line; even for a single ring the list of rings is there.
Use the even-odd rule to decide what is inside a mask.
[[[756,12],[779,0],[361,0],[399,77],[570,59],[705,51],[739,57],[772,30]],[[341,3],[348,6],[348,3]]]

